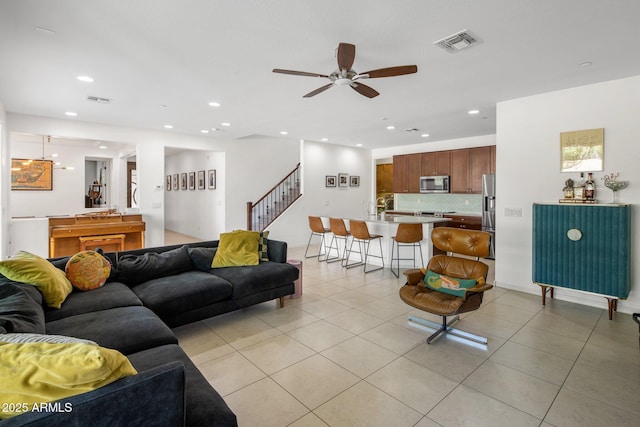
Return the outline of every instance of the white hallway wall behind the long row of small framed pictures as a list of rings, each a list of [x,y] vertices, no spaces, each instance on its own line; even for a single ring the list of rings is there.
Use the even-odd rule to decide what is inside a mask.
[[[165,157],[165,175],[216,170],[217,185],[211,190],[166,191],[164,225],[166,229],[194,236],[202,240],[215,240],[225,231],[225,153],[185,150]],[[166,177],[165,177],[166,181]],[[207,183],[208,184],[208,183]]]

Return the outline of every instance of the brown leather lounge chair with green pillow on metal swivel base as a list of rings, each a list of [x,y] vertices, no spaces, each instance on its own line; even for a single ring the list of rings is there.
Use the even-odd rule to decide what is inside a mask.
[[[487,339],[452,328],[458,315],[477,310],[485,291],[493,285],[486,283],[489,266],[479,258],[489,256],[490,234],[484,231],[437,227],[431,233],[433,245],[446,255],[435,255],[426,269],[404,272],[407,283],[400,288],[400,298],[412,307],[442,316],[442,324],[410,316],[409,321],[437,329],[427,338],[430,344],[443,332],[487,344]],[[456,257],[454,254],[470,258]],[[426,281],[425,281],[426,277]],[[429,285],[426,284],[429,283]],[[447,322],[448,316],[455,316]]]

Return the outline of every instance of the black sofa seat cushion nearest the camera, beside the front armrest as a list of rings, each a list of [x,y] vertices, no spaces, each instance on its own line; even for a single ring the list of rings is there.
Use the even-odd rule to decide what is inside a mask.
[[[129,355],[140,372],[165,363],[180,361],[186,376],[186,425],[208,427],[237,426],[235,414],[209,384],[193,362],[177,345],[164,345]]]

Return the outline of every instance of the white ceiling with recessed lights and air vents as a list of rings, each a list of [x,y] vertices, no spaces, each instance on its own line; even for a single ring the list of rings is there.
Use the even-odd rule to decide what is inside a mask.
[[[0,102],[164,132],[222,129],[210,138],[286,130],[380,148],[425,142],[422,133],[486,135],[496,102],[640,74],[639,19],[637,0],[1,0]],[[433,45],[463,29],[481,43],[454,54]],[[357,71],[418,73],[367,80],[381,93],[373,99],[348,87],[303,99],[328,81],[271,72],[329,74],[340,42],[356,45]]]

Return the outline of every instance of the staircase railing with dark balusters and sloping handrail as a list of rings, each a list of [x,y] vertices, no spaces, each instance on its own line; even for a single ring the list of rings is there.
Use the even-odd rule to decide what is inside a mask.
[[[300,163],[257,202],[247,202],[247,230],[262,231],[300,196]]]

